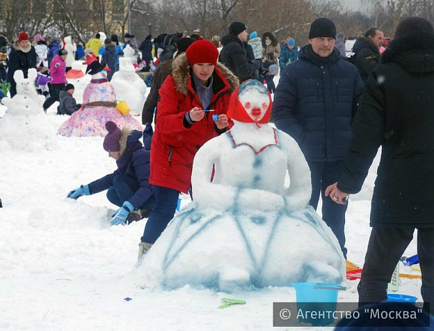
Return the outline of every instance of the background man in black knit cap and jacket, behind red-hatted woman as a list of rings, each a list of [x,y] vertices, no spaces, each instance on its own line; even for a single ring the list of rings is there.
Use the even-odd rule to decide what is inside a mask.
[[[258,78],[260,62],[249,61],[245,43],[248,38],[247,26],[242,22],[232,22],[229,34],[221,38],[223,48],[219,62],[223,63],[238,77],[240,83]]]

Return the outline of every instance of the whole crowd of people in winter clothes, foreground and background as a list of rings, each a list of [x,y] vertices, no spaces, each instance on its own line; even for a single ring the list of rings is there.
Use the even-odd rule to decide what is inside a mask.
[[[43,107],[46,110],[62,98],[61,108],[68,109],[62,113],[80,106],[70,100],[73,86],[65,78],[78,57],[90,65],[101,56],[110,80],[129,47],[137,65],[144,61],[143,68],[154,71],[142,112],[146,148],[139,142],[141,132],[122,131],[107,122],[104,149],[116,159],[117,170],[68,194],[77,199],[107,189],[107,198],[120,207],[112,224],[148,217],[139,258],[152,249],[173,218],[179,193],[194,198],[194,156],[205,142],[231,129],[233,120],[227,115],[231,93],[239,83],[252,79],[266,83],[274,93],[272,119],[300,146],[311,172],[309,204],[317,209],[322,197],[322,218],[345,258],[348,196],[360,191],[382,147],[359,302],[386,299],[393,269],[417,228],[422,297],[434,303],[434,199],[430,194],[434,186],[434,29],[430,22],[404,19],[391,43],[381,29],[369,28],[356,39],[354,55],[349,57],[344,33],[337,33],[327,18],[311,23],[308,43],[301,47],[290,36],[279,42],[270,32],[249,35],[240,21],[233,21],[225,36],[213,36],[211,41],[194,35],[154,40],[147,36],[137,46],[134,36],[127,33],[121,46],[115,35],[105,41],[100,38],[97,33],[77,55],[79,47],[72,36],[58,42],[36,35],[32,45],[28,34],[21,32],[10,47],[9,60],[0,61],[8,61],[11,97],[16,93],[16,70],[23,70],[25,76],[29,68],[49,73],[50,96]],[[2,68],[0,79],[5,78]],[[273,78],[279,74],[276,87]]]

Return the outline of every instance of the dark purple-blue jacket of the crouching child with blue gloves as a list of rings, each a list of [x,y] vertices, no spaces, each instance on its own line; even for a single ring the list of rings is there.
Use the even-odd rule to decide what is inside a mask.
[[[149,184],[149,173],[151,172],[149,157],[151,151],[142,147],[142,143],[139,142],[140,137],[142,137],[142,132],[137,130],[132,131],[127,139],[125,152],[116,161],[116,171],[90,183],[89,189],[92,194],[109,189],[113,186],[113,179],[118,174],[125,174],[135,179],[139,184],[137,191],[128,200],[134,208],[139,208],[147,199],[154,195],[154,190]],[[149,144],[145,147],[149,148]]]

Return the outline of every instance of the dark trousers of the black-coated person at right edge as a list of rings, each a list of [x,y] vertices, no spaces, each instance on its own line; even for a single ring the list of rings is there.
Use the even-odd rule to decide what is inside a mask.
[[[413,239],[415,228],[372,228],[361,273],[359,305],[379,303],[386,300],[387,285],[393,270],[408,244]],[[418,229],[418,258],[422,273],[424,303],[431,303],[434,312],[434,228]]]

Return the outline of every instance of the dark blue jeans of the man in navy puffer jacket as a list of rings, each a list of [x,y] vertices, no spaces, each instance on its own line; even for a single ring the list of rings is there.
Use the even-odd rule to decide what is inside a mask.
[[[337,182],[339,174],[344,167],[344,161],[336,162],[307,162],[312,177],[312,196],[309,204],[317,210],[319,193],[322,198],[322,219],[339,241],[344,258],[345,248],[345,212],[347,204],[337,204],[329,196],[325,196],[327,186]]]

